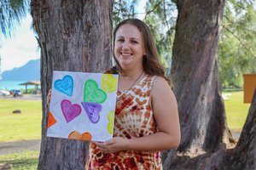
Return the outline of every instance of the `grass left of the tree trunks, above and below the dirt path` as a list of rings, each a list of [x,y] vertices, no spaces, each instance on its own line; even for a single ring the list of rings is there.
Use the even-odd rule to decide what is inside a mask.
[[[13,114],[20,110],[21,114]],[[0,99],[0,142],[41,139],[41,100]],[[0,165],[11,169],[37,169],[39,151],[23,151],[0,156]]]

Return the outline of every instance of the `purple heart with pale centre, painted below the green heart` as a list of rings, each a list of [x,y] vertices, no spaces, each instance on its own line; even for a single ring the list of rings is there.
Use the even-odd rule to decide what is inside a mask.
[[[82,105],[90,122],[96,123],[100,120],[99,112],[102,111],[102,105],[90,102],[82,102]]]

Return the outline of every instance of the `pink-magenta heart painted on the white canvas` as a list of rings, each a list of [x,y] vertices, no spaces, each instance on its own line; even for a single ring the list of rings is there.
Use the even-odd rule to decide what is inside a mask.
[[[82,111],[80,105],[72,105],[67,99],[61,101],[61,110],[67,122],[71,122],[74,118],[79,116]]]

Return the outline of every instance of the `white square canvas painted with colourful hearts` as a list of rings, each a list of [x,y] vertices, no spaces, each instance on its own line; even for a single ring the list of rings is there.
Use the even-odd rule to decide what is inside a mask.
[[[112,139],[117,84],[114,74],[54,71],[47,136]]]

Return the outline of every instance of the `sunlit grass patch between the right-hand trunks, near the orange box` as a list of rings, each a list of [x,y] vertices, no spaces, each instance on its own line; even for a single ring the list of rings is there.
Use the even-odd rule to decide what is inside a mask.
[[[223,94],[231,94],[229,99],[224,100],[228,126],[231,131],[240,132],[246,121],[250,104],[243,103],[243,91]]]

